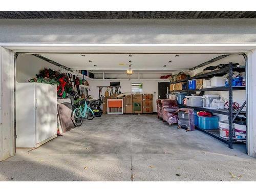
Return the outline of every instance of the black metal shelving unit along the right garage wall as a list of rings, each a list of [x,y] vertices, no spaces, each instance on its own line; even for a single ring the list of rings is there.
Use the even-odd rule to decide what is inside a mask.
[[[198,106],[186,106],[184,104],[179,104],[179,106],[181,106],[182,108],[191,108],[191,109],[195,109],[195,110],[199,110],[199,111],[207,111],[207,112],[211,112],[211,113],[217,113],[217,114],[222,114],[222,115],[227,115],[228,116],[228,122],[229,122],[229,138],[225,139],[220,137],[219,134],[219,130],[203,130],[200,127],[196,126],[196,129],[199,131],[202,131],[216,139],[219,139],[222,142],[225,142],[228,144],[229,148],[233,148],[233,143],[238,143],[241,141],[245,141],[245,139],[239,139],[239,141],[237,139],[233,138],[233,122],[236,119],[236,117],[238,115],[246,115],[246,112],[242,111],[242,109],[244,108],[246,101],[242,104],[241,108],[238,111],[234,111],[233,107],[232,107],[232,102],[233,102],[233,91],[238,91],[238,90],[246,90],[246,87],[232,87],[232,73],[233,71],[238,71],[238,72],[245,72],[245,67],[233,67],[232,66],[232,62],[229,62],[229,65],[225,68],[219,69],[219,70],[214,70],[211,71],[209,73],[205,73],[205,74],[200,74],[194,77],[189,77],[186,79],[182,79],[179,81],[175,81],[175,82],[171,82],[171,84],[174,83],[178,83],[178,82],[187,82],[188,84],[188,80],[191,79],[201,79],[201,78],[211,78],[211,77],[216,77],[216,76],[223,76],[225,74],[228,73],[228,83],[229,86],[228,87],[216,87],[216,88],[205,88],[205,89],[197,89],[197,90],[180,90],[180,91],[170,91],[170,92],[187,92],[187,93],[194,93],[194,92],[201,92],[200,95],[203,95],[205,91],[228,91],[228,109],[220,109],[220,110],[215,110],[215,109],[208,109],[208,108],[202,108],[202,107],[198,107]]]

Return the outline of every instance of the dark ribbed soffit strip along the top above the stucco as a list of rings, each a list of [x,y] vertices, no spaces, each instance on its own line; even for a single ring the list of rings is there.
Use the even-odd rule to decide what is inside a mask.
[[[207,19],[256,18],[256,11],[0,11],[9,19]]]

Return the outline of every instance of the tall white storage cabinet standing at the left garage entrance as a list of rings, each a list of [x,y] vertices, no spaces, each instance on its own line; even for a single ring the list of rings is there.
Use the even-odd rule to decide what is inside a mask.
[[[16,147],[38,147],[57,137],[55,85],[17,83],[16,99]]]

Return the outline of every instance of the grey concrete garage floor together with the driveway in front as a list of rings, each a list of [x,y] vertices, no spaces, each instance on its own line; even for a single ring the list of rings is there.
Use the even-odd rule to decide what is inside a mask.
[[[156,115],[103,115],[0,162],[2,181],[256,181],[256,159]],[[28,152],[29,151],[29,152]],[[176,175],[177,174],[177,175]]]

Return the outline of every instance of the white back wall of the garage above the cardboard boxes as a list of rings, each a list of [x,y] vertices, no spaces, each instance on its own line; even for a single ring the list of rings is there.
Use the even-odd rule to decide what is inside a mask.
[[[97,86],[110,86],[110,82],[111,82],[111,80],[107,80],[107,79],[89,81],[89,84],[90,84],[90,87],[91,87],[89,89],[89,95],[91,95],[92,98],[99,99],[99,89],[96,88],[96,87]],[[156,81],[156,80],[131,80],[131,81],[121,80],[120,81],[121,92],[122,93],[131,92],[132,91],[132,88],[131,88],[131,83],[132,82],[143,83],[143,93],[152,93],[153,94],[153,112],[157,112],[156,99],[158,98],[158,82],[161,82],[161,81]],[[106,89],[103,90],[103,95],[104,95],[105,90]]]

